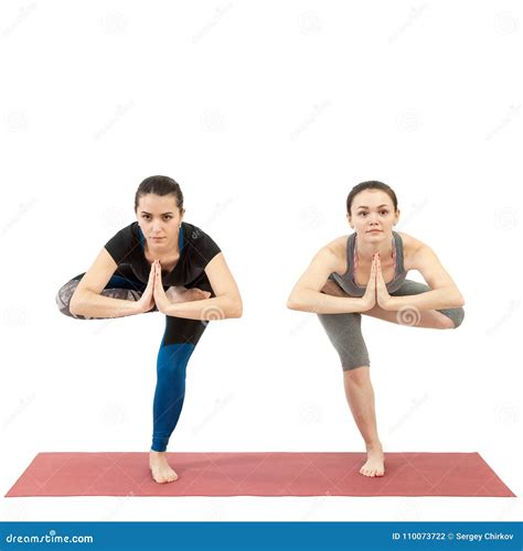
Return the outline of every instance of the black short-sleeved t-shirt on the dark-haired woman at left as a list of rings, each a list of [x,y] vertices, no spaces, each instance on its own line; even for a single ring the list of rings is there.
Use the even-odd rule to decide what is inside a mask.
[[[105,248],[115,262],[129,264],[142,283],[148,282],[151,266],[145,255],[146,238],[138,222],[120,229],[106,244]],[[183,285],[188,289],[198,287],[212,292],[205,274],[207,263],[221,252],[220,247],[202,229],[182,222],[179,237],[180,259],[170,272],[162,271],[163,287]]]

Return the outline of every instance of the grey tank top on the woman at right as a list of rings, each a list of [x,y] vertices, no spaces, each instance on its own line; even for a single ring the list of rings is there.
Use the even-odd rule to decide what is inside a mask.
[[[393,293],[399,289],[407,277],[407,272],[403,266],[403,239],[399,234],[393,230],[393,257],[394,257],[394,278],[387,283],[387,291]],[[329,279],[335,281],[345,293],[351,296],[363,296],[365,287],[360,287],[354,282],[354,264],[355,258],[355,241],[356,233],[354,231],[346,240],[346,272],[340,276],[338,272],[332,272]]]

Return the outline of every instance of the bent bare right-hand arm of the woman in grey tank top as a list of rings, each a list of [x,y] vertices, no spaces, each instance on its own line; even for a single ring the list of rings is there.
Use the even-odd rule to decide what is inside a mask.
[[[394,311],[404,306],[440,310],[465,305],[465,299],[458,287],[430,247],[425,244],[419,246],[414,252],[412,263],[413,269],[421,273],[431,291],[407,296],[391,296],[385,310]]]

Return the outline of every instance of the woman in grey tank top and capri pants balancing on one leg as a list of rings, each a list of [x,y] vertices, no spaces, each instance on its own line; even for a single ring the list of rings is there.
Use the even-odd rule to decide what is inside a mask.
[[[365,441],[360,473],[383,476],[370,359],[361,314],[414,327],[447,329],[465,317],[463,298],[430,247],[393,227],[399,219],[394,191],[381,182],[356,185],[346,199],[354,230],[322,247],[296,283],[287,306],[313,312],[337,349],[349,407]],[[428,285],[405,279],[417,270]]]

